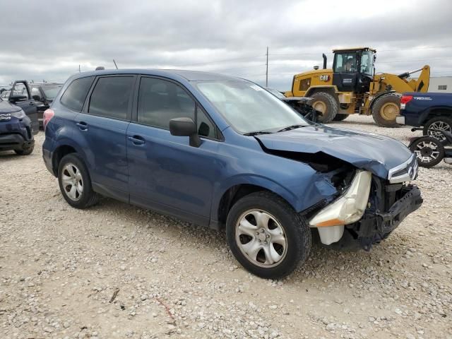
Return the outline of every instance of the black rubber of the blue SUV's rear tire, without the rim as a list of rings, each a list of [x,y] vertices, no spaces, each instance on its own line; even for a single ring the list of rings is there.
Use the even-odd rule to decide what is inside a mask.
[[[63,175],[65,173],[65,167],[66,165],[72,164],[80,171],[81,179],[83,182],[83,192],[78,195],[77,200],[73,200],[69,193],[66,191],[68,186],[64,186],[63,184]],[[70,153],[68,155],[64,155],[64,157],[59,162],[58,166],[58,182],[59,182],[59,189],[61,191],[61,194],[64,197],[64,200],[69,203],[74,208],[88,208],[90,206],[95,205],[99,201],[99,195],[93,191],[93,186],[91,186],[91,179],[88,172],[88,169],[86,168],[85,163],[81,159],[80,156],[77,155],[77,153]]]

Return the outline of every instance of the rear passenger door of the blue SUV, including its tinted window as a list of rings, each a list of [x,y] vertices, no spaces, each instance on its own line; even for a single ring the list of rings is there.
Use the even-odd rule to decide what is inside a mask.
[[[131,119],[136,76],[99,76],[83,111],[75,117],[78,137],[85,139],[95,190],[129,201],[126,131]]]

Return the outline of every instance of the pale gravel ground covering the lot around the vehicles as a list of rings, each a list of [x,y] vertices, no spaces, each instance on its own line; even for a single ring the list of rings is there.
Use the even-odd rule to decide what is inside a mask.
[[[370,117],[336,125],[415,135]],[[0,153],[0,338],[452,338],[444,162],[420,169],[422,208],[370,252],[314,245],[288,278],[263,280],[222,232],[107,198],[69,207],[43,140]]]

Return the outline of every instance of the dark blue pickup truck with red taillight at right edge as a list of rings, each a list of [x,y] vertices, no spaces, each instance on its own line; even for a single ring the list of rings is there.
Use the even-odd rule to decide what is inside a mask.
[[[408,126],[422,126],[424,136],[444,141],[444,134],[438,131],[452,132],[452,93],[404,93],[396,121]]]

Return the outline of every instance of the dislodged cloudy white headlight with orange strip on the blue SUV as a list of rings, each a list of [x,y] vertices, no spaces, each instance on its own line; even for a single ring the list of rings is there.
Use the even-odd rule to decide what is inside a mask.
[[[309,220],[311,227],[347,225],[362,218],[369,201],[372,174],[359,170],[343,196]]]

